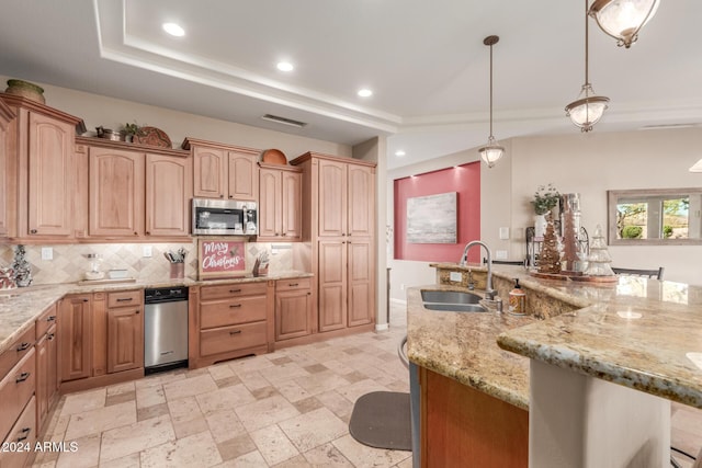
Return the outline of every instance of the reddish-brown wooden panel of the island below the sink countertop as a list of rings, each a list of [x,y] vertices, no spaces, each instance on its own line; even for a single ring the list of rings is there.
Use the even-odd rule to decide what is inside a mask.
[[[529,412],[423,367],[421,467],[529,465]]]

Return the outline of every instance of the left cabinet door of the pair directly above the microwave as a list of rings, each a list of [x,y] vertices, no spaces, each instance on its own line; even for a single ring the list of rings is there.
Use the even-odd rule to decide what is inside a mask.
[[[194,147],[193,193],[205,198],[224,198],[227,193],[227,153],[223,149]]]

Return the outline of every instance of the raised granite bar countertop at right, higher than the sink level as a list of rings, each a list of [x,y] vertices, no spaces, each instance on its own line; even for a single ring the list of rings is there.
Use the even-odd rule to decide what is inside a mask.
[[[702,287],[621,276],[613,285],[520,283],[590,306],[505,331],[500,347],[702,408]]]

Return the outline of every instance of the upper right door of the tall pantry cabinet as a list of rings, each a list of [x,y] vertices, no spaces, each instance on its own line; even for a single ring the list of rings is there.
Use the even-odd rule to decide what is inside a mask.
[[[365,165],[348,168],[348,236],[373,236],[375,226],[375,170]]]

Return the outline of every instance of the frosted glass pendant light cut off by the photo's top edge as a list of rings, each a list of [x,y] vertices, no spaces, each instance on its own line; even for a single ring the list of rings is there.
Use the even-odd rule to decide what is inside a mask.
[[[659,0],[595,0],[590,16],[602,31],[616,39],[618,46],[630,48],[638,31],[658,10]]]

